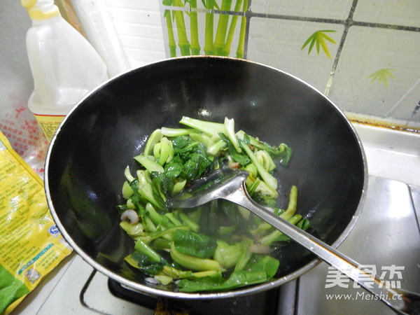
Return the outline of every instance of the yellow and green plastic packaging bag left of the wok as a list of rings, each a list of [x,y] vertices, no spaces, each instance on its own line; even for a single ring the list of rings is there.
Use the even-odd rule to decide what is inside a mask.
[[[71,253],[42,179],[0,132],[0,314],[8,314]]]

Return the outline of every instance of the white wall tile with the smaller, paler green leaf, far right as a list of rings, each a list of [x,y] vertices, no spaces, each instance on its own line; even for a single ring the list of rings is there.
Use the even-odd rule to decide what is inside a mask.
[[[420,32],[351,27],[330,98],[348,111],[369,108],[379,116],[407,119],[420,100],[419,43]],[[371,82],[368,77],[384,68],[394,69],[388,86]]]

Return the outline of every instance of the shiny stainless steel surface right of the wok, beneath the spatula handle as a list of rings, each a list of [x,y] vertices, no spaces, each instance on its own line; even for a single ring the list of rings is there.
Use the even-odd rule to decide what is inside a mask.
[[[370,176],[362,214],[338,248],[362,265],[374,265],[377,274],[386,272],[384,278],[395,281],[394,288],[412,292],[420,292],[420,230],[414,208],[420,204],[419,192],[418,186]],[[389,278],[392,266],[402,279],[395,274]],[[325,262],[301,276],[295,312],[289,314],[395,314],[363,288],[353,288],[352,281],[325,288],[328,276]]]

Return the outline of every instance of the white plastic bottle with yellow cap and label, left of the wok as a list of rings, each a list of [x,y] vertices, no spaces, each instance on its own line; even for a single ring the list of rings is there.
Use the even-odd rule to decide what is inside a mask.
[[[53,0],[21,0],[32,20],[27,53],[34,77],[28,107],[48,139],[85,94],[108,79],[106,64]]]

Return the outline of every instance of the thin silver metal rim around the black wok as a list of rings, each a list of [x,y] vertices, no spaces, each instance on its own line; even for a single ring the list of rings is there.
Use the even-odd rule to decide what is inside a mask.
[[[309,83],[305,82],[304,80],[302,80],[300,78],[297,78],[297,76],[293,76],[292,74],[290,74],[286,71],[282,71],[281,69],[277,69],[274,66],[268,66],[268,65],[262,64],[260,62],[255,62],[255,61],[251,61],[251,60],[247,60],[247,59],[238,59],[238,58],[235,58],[235,57],[196,55],[196,56],[173,57],[173,58],[161,59],[161,60],[158,60],[158,61],[155,61],[155,62],[144,64],[143,66],[139,66],[139,67],[134,68],[134,69],[130,69],[128,71],[125,71],[123,73],[118,74],[117,76],[114,76],[113,78],[109,78],[109,80],[106,80],[104,83],[102,83],[101,85],[98,85],[96,88],[94,88],[94,90],[87,93],[85,95],[85,97],[80,99],[80,101],[73,107],[73,109],[71,109],[71,111],[69,111],[69,113],[64,118],[64,120],[62,120],[62,123],[60,123],[59,127],[57,128],[57,131],[55,132],[54,136],[52,137],[52,139],[50,141],[50,145],[48,146],[48,151],[47,151],[47,154],[46,154],[46,157],[45,157],[45,168],[44,168],[45,169],[45,172],[44,172],[44,187],[45,188],[44,189],[45,189],[45,195],[46,195],[46,200],[47,200],[48,207],[50,209],[52,218],[54,219],[55,224],[57,225],[57,228],[62,233],[62,236],[64,237],[65,241],[71,246],[71,248],[73,248],[73,250],[78,255],[80,255],[81,258],[83,258],[83,260],[85,260],[85,262],[87,262],[95,270],[104,274],[105,276],[108,276],[109,278],[111,278],[115,281],[118,281],[119,283],[122,283],[126,286],[129,286],[130,288],[132,288],[134,290],[137,290],[140,293],[146,293],[146,294],[149,294],[149,295],[155,295],[155,296],[161,296],[161,297],[180,298],[180,299],[211,300],[211,299],[218,299],[218,298],[230,298],[230,297],[239,297],[239,296],[244,296],[244,295],[251,295],[251,294],[255,294],[255,293],[260,293],[260,292],[265,291],[265,290],[278,288],[279,286],[281,286],[281,285],[283,285],[283,284],[285,284],[289,281],[292,281],[294,279],[297,279],[299,276],[302,276],[303,274],[309,272],[309,270],[316,267],[316,265],[323,262],[323,260],[321,258],[314,258],[313,260],[307,262],[307,264],[304,265],[303,267],[300,267],[299,269],[295,270],[295,272],[291,272],[291,273],[287,274],[286,276],[282,276],[278,279],[274,279],[272,281],[265,282],[265,283],[256,284],[256,285],[253,285],[253,286],[248,286],[248,287],[244,287],[244,288],[237,288],[235,290],[227,290],[227,291],[221,291],[221,292],[216,292],[216,293],[214,293],[214,292],[213,293],[182,293],[182,292],[176,292],[176,291],[173,291],[173,290],[171,290],[171,291],[162,290],[162,289],[159,289],[159,288],[153,288],[151,286],[146,286],[146,285],[138,283],[136,281],[126,279],[123,276],[120,276],[120,275],[116,274],[115,272],[111,272],[111,270],[107,269],[103,265],[99,264],[99,262],[95,261],[89,255],[87,255],[85,253],[85,251],[83,251],[83,249],[80,248],[73,241],[73,238],[71,237],[71,235],[69,235],[69,233],[66,231],[66,229],[64,228],[64,225],[62,225],[62,222],[59,219],[59,216],[57,215],[57,212],[55,211],[54,205],[52,204],[52,199],[51,199],[51,195],[50,195],[49,180],[48,180],[49,169],[50,169],[50,167],[49,167],[49,165],[50,165],[50,155],[52,153],[52,149],[54,148],[55,141],[56,141],[57,137],[59,136],[60,130],[62,130],[62,128],[64,127],[64,125],[66,123],[66,120],[68,120],[71,117],[71,114],[73,113],[73,111],[75,111],[78,108],[78,106],[80,106],[80,104],[83,104],[85,99],[90,97],[91,94],[93,94],[97,90],[100,90],[107,83],[109,83],[113,80],[116,80],[116,79],[120,78],[121,76],[126,75],[127,73],[131,73],[133,71],[136,71],[137,69],[141,69],[141,68],[146,67],[146,66],[153,66],[155,64],[173,62],[176,59],[197,59],[197,58],[232,59],[232,60],[239,61],[239,62],[256,64],[258,66],[263,66],[265,68],[272,69],[274,71],[278,71],[279,73],[283,73],[286,76],[290,76],[291,78],[294,78],[295,80],[300,81],[300,83],[303,83],[309,89],[314,90],[318,95],[323,97],[326,102],[330,103],[330,105],[333,106],[333,108],[339,113],[339,115],[342,116],[342,118],[344,118],[344,122],[348,125],[351,132],[353,133],[353,136],[355,137],[356,142],[358,144],[358,148],[360,149],[360,155],[361,155],[360,158],[363,161],[363,187],[361,188],[362,191],[361,191],[361,194],[360,194],[360,200],[358,202],[358,207],[356,208],[356,211],[354,212],[353,217],[351,218],[351,221],[349,222],[348,225],[346,225],[346,228],[344,228],[343,232],[339,235],[339,237],[337,237],[337,239],[332,244],[330,244],[330,246],[332,248],[336,249],[340,244],[342,244],[342,242],[344,241],[344,239],[346,239],[346,237],[349,235],[351,230],[353,230],[354,225],[356,225],[356,222],[358,221],[358,218],[360,217],[361,211],[363,210],[363,205],[365,204],[366,194],[367,194],[367,182],[368,182],[367,160],[366,160],[366,155],[365,155],[365,151],[364,151],[364,148],[363,148],[363,144],[361,143],[360,137],[358,136],[358,133],[356,132],[356,128],[351,124],[349,118],[347,118],[345,116],[344,111],[342,109],[340,109],[339,106],[337,106],[337,104],[332,102],[323,93],[321,93],[319,90],[317,90],[315,87],[313,87]]]

